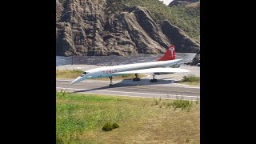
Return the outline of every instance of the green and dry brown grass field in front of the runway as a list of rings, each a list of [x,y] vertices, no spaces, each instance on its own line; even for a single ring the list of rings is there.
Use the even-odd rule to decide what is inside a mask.
[[[200,143],[200,102],[189,103],[56,92],[57,143]]]

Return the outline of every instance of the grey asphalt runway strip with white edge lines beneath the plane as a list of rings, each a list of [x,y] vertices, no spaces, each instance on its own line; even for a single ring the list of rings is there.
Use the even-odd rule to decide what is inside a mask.
[[[131,80],[113,81],[114,86],[109,86],[109,81],[85,80],[70,85],[73,79],[56,79],[56,89],[74,93],[107,94],[117,96],[130,96],[142,98],[184,98],[188,100],[200,99],[199,86],[186,86],[173,83],[173,80],[158,79],[158,82],[149,82],[143,78],[139,82]]]

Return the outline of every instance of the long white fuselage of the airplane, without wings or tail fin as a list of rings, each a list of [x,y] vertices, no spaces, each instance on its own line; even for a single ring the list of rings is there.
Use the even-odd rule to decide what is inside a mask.
[[[122,74],[114,74],[114,73],[123,72],[123,71],[173,66],[181,61],[182,59],[174,59],[170,61],[142,62],[142,63],[127,64],[127,65],[119,65],[119,66],[99,67],[92,70],[87,70],[86,74],[82,74],[80,77],[76,78],[72,83],[83,81],[86,78],[102,78],[102,77],[122,75]]]

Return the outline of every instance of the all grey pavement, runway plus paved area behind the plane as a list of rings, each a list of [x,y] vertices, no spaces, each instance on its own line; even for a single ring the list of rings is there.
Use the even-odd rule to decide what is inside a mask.
[[[100,66],[94,65],[66,65],[57,66],[56,70],[90,70]],[[184,98],[196,100],[200,98],[199,86],[187,86],[174,83],[175,80],[182,78],[183,75],[194,74],[200,75],[198,66],[180,66],[180,68],[190,70],[190,73],[176,73],[157,75],[158,82],[150,82],[150,75],[142,78],[139,82],[131,80],[113,81],[114,86],[109,86],[109,81],[99,81],[88,79],[70,85],[73,79],[56,79],[57,90],[67,90],[75,93],[89,94],[113,94],[119,96],[143,97],[143,98]]]

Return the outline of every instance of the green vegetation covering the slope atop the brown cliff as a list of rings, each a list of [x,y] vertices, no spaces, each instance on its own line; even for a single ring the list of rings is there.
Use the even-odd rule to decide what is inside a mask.
[[[159,0],[107,0],[108,10],[112,13],[122,11],[125,5],[142,6],[150,10],[154,22],[169,20],[175,26],[184,30],[196,42],[200,42],[200,6],[166,6]],[[200,4],[199,4],[200,5]]]

